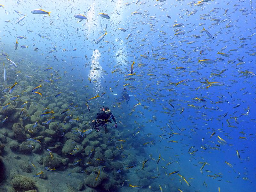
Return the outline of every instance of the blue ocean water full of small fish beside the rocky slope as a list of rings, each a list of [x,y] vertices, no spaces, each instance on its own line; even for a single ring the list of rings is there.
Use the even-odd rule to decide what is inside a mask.
[[[150,183],[156,183],[158,191],[255,191],[255,2],[27,0],[1,4],[1,53],[17,64],[16,69],[1,55],[7,78],[2,77],[1,89],[17,81],[15,96],[25,90],[20,80],[32,87],[42,83],[42,98],[53,101],[62,92],[60,100],[77,105],[72,114],[80,119],[88,112],[85,103],[95,113],[85,114],[90,120],[96,118],[99,107],[108,106],[117,120],[117,132],[130,133],[118,138],[108,125],[113,129],[111,136],[127,140],[126,153],[138,156],[138,169],[149,159],[145,169],[148,166],[148,174],[154,175]],[[32,14],[35,9],[51,11],[50,16]],[[76,14],[87,19],[78,22]],[[18,36],[25,38],[18,39],[15,50]],[[60,82],[44,82],[58,77]],[[130,100],[117,101],[124,87]],[[89,100],[97,94],[101,97]],[[9,95],[2,93],[1,106]],[[169,175],[174,171],[179,172]],[[120,174],[128,180],[137,174],[129,173]],[[116,191],[154,191],[151,184],[140,189],[129,184],[141,186],[139,181],[125,181]]]

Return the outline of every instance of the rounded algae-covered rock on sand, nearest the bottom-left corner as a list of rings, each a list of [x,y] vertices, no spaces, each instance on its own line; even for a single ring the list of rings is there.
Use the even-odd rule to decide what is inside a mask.
[[[33,180],[26,176],[16,175],[12,179],[12,187],[17,191],[27,191],[31,189],[36,189],[36,185]]]

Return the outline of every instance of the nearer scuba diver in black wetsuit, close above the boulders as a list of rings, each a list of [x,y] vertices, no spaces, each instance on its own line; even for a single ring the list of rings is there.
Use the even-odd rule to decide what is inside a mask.
[[[110,112],[110,109],[108,107],[101,107],[100,111],[97,113],[97,117],[95,119],[95,126],[94,128],[97,129],[97,131],[100,131],[100,126],[105,128],[105,133],[108,133],[107,129],[107,123],[112,123],[110,119],[113,119],[115,122],[115,128],[117,127],[116,119],[113,116],[113,114]]]

